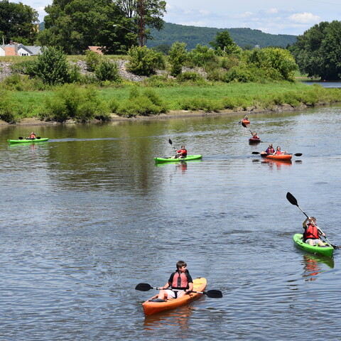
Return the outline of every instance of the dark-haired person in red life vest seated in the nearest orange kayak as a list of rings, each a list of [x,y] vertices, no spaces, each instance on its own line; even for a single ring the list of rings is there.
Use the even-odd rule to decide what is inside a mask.
[[[171,289],[168,289],[171,287]],[[173,291],[177,289],[180,291]],[[176,271],[171,274],[168,282],[161,288],[158,293],[158,299],[165,300],[168,298],[179,298],[193,290],[193,279],[187,269],[185,261],[178,261]]]

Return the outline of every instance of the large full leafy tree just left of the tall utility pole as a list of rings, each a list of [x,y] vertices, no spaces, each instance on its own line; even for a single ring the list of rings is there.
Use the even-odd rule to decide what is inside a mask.
[[[124,13],[111,0],[53,0],[46,6],[42,45],[60,46],[65,53],[83,53],[88,46],[102,46],[104,53],[125,53],[137,37],[123,35],[114,23],[124,22]]]

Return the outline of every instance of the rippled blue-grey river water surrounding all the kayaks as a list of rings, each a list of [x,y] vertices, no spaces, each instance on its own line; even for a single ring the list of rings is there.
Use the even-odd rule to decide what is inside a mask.
[[[340,340],[341,251],[293,246],[303,213],[341,244],[340,107],[100,125],[1,126],[1,340]],[[9,146],[31,130],[50,141]],[[156,166],[185,144],[202,161]],[[252,151],[273,143],[292,163]],[[183,259],[189,306],[141,303]]]

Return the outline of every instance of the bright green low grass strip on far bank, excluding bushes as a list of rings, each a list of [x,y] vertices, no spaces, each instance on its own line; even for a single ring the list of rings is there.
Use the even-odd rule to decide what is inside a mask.
[[[167,110],[204,110],[220,112],[225,109],[242,111],[249,109],[272,110],[278,105],[289,104],[300,107],[341,102],[341,90],[323,88],[320,85],[305,85],[300,82],[258,83],[215,83],[214,85],[173,85],[171,87],[144,87],[143,85],[122,85],[97,90],[100,100],[107,106],[108,114],[118,113],[134,99],[134,92],[144,97],[144,91],[151,91]],[[47,99],[53,91],[23,92],[11,91],[7,95],[16,108],[16,121],[26,117],[41,117]],[[111,105],[112,103],[116,105]],[[128,104],[127,104],[128,103]],[[114,108],[114,109],[113,109]],[[133,108],[134,109],[134,108]],[[145,116],[148,116],[146,114]],[[134,116],[134,114],[121,114]]]

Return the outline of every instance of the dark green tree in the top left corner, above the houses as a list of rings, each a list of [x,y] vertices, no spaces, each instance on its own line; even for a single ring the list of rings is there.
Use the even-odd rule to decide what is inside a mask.
[[[33,44],[38,33],[38,12],[21,2],[0,1],[0,31],[6,41]]]

